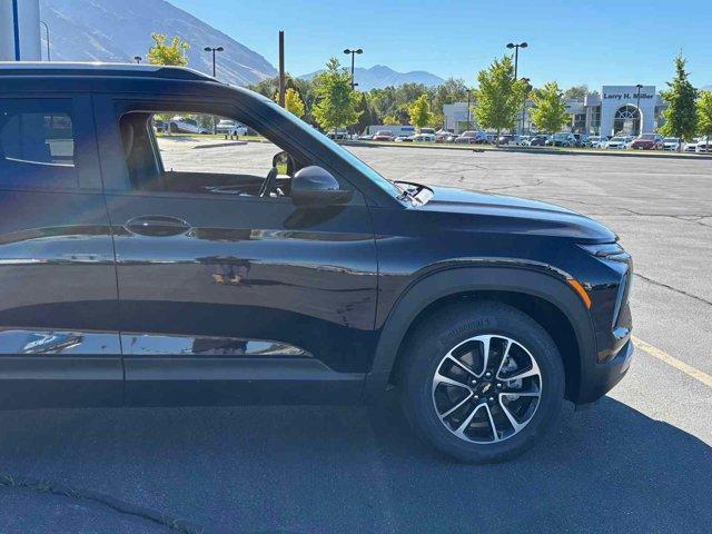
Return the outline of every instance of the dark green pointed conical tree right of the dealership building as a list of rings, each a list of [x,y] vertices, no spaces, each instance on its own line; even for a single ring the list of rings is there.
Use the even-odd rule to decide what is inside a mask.
[[[660,92],[668,102],[668,108],[663,110],[665,122],[659,130],[663,136],[691,139],[698,130],[698,90],[688,79],[685,63],[682,55],[675,58],[675,78],[668,82],[669,90]]]

